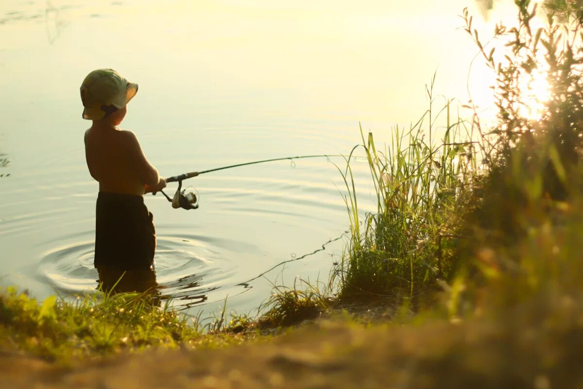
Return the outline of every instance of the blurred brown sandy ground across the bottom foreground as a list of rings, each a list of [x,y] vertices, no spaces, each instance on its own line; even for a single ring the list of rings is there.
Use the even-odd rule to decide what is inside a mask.
[[[58,367],[0,356],[2,388],[583,388],[583,323],[560,331],[487,323],[320,320],[221,349],[152,350]]]

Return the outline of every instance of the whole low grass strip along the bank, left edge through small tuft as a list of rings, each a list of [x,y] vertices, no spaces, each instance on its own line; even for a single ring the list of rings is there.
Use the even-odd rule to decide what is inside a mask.
[[[221,348],[259,337],[266,328],[315,318],[329,299],[310,283],[306,290],[275,286],[273,295],[251,318],[222,310],[209,318],[189,318],[159,307],[147,293],[87,293],[76,299],[47,297],[38,302],[16,288],[0,290],[0,349],[69,364],[120,352],[152,348]],[[153,304],[154,303],[154,304]],[[267,333],[261,338],[267,339]]]

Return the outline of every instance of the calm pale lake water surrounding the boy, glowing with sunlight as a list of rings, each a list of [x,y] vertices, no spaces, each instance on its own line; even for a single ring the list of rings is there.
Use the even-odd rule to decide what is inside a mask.
[[[0,177],[0,285],[40,299],[97,286],[98,184],[85,165],[90,122],[79,98],[89,71],[114,68],[139,84],[121,127],[163,176],[347,154],[359,121],[377,142],[416,121],[435,71],[438,93],[467,99],[476,50],[458,28],[465,6],[481,15],[463,0],[2,0],[0,153],[10,162],[0,167],[9,174]],[[229,309],[252,313],[272,283],[328,281],[348,227],[333,163],[343,166],[304,159],[193,178],[195,211],[146,195],[163,295],[209,312],[227,297]],[[366,163],[354,169],[360,206],[373,209]]]

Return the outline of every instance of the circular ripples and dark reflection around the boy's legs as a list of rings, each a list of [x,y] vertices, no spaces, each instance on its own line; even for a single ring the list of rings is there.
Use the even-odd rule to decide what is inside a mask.
[[[73,237],[91,234],[87,231]],[[203,236],[163,236],[158,239],[155,269],[124,271],[113,266],[95,269],[94,242],[82,241],[48,251],[35,272],[40,282],[51,285],[60,295],[100,288],[103,284],[101,290],[113,289],[114,293],[150,290],[157,302],[170,299],[173,306],[188,309],[207,302],[208,293],[221,288],[233,276],[231,264],[213,259],[227,247],[244,250],[245,245]]]

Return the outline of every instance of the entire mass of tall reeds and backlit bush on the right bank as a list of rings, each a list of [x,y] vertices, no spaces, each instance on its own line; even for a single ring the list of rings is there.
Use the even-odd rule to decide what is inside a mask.
[[[455,314],[468,302],[583,292],[583,10],[576,19],[547,13],[546,26],[535,29],[536,5],[516,4],[517,25],[497,25],[491,40],[506,40],[503,52],[480,41],[463,13],[497,77],[494,128],[476,116],[469,127],[452,122],[451,101],[434,115],[431,82],[429,110],[408,131],[395,128],[385,152],[361,131],[377,209],[359,212],[351,153],[340,170],[352,233],[333,275],[340,296],[445,289]],[[536,102],[544,109],[533,119],[524,93],[540,72],[550,96]]]

